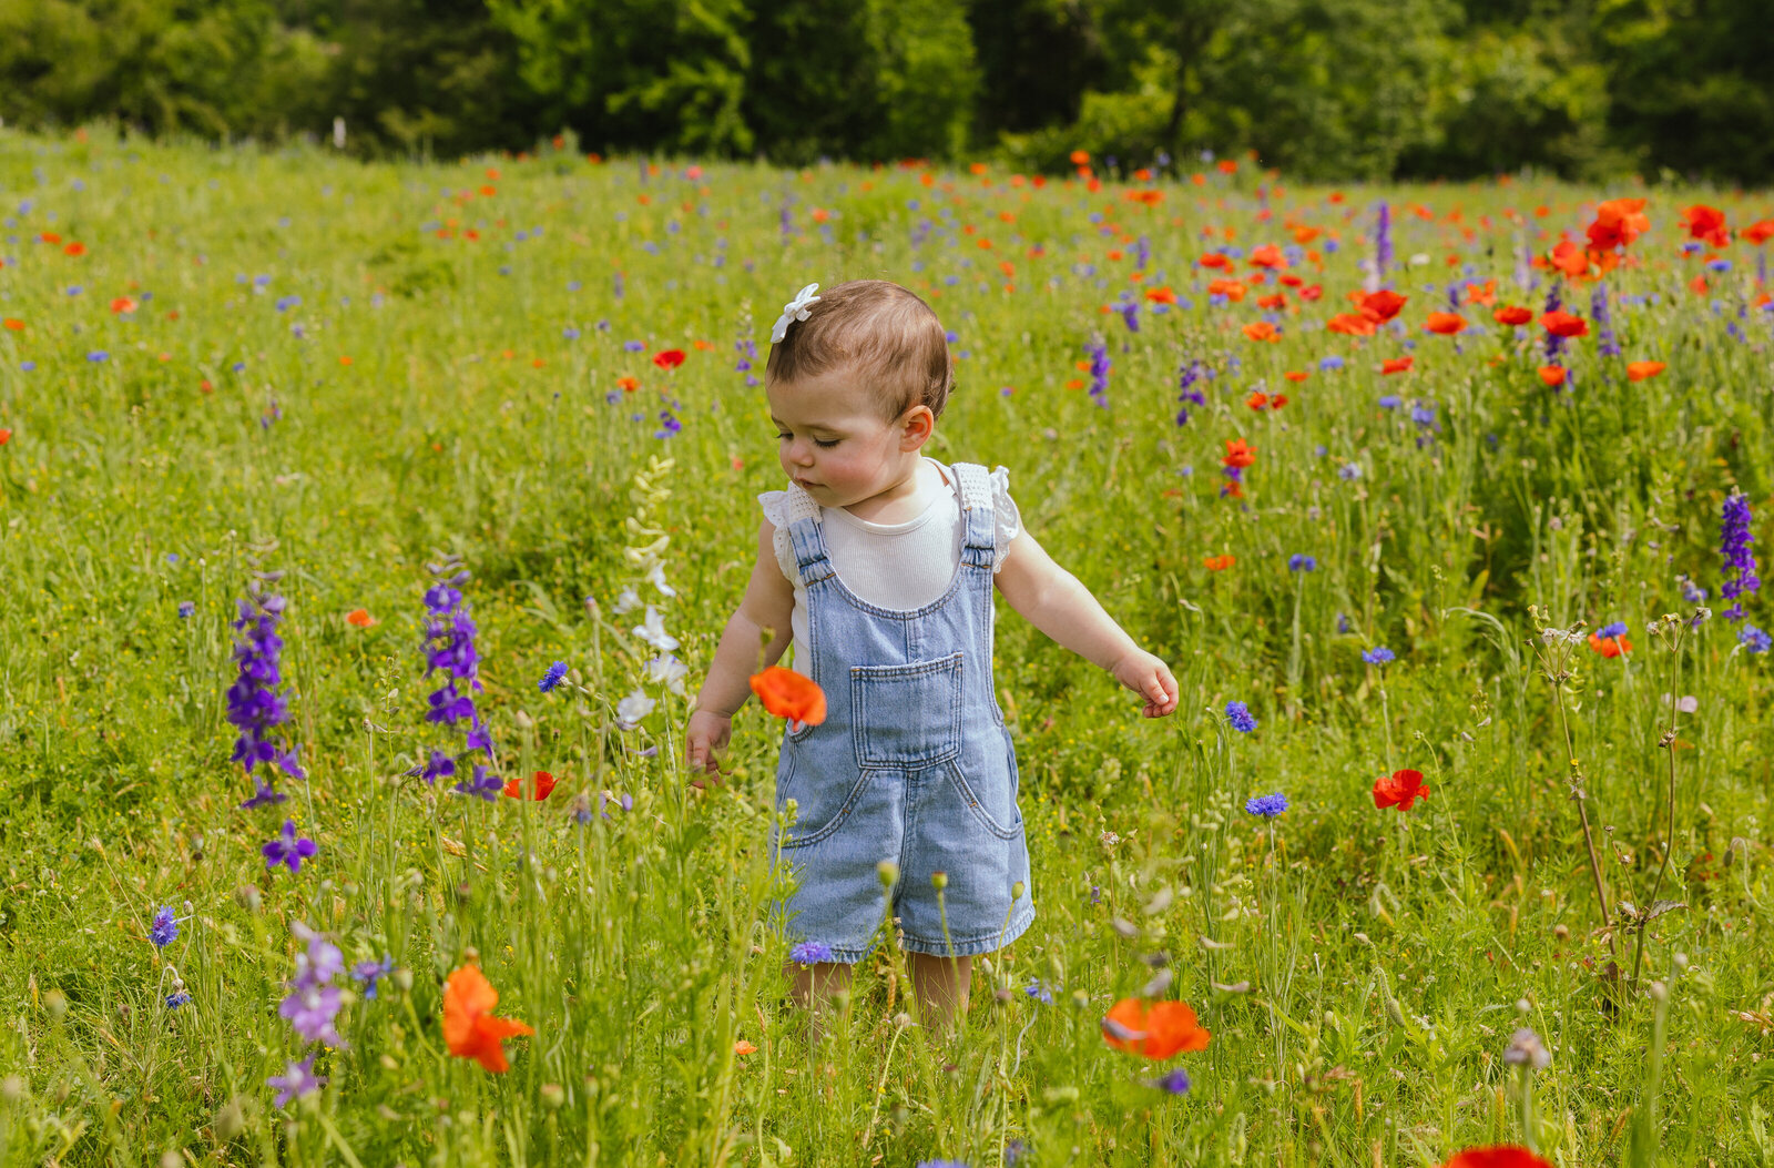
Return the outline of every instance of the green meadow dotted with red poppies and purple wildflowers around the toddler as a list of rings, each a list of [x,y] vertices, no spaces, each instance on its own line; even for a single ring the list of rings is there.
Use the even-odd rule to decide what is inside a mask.
[[[0,131],[0,1161],[1774,1157],[1774,197],[1075,162]],[[1001,605],[1036,921],[809,1042],[681,731],[857,277],[1181,706]]]

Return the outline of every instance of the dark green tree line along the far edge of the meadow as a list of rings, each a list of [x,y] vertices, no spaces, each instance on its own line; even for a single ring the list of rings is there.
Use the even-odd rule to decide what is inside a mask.
[[[0,0],[0,117],[454,156],[1774,178],[1765,0]]]

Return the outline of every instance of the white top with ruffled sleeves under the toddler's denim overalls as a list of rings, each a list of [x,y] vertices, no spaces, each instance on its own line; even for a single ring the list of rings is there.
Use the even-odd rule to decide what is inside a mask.
[[[860,600],[880,609],[921,609],[949,591],[962,564],[960,485],[935,458],[924,458],[919,474],[922,506],[899,524],[875,524],[844,508],[821,508],[805,492],[791,497],[786,490],[757,495],[765,518],[775,527],[772,547],[782,577],[795,584],[795,643],[807,643],[807,586],[795,563],[795,543],[788,529],[797,508],[818,508],[825,547],[837,579]],[[917,502],[914,502],[917,506]],[[1009,497],[1009,469],[992,470],[993,554],[992,572],[1004,566],[1011,540],[1022,533],[1022,513]],[[786,662],[784,662],[786,664]]]

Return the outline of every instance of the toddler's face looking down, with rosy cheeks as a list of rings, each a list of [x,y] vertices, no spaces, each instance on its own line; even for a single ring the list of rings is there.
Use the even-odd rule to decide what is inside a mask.
[[[765,396],[777,426],[782,472],[821,506],[873,499],[917,467],[919,444],[903,449],[905,417],[882,421],[875,394],[848,369],[772,382]]]

